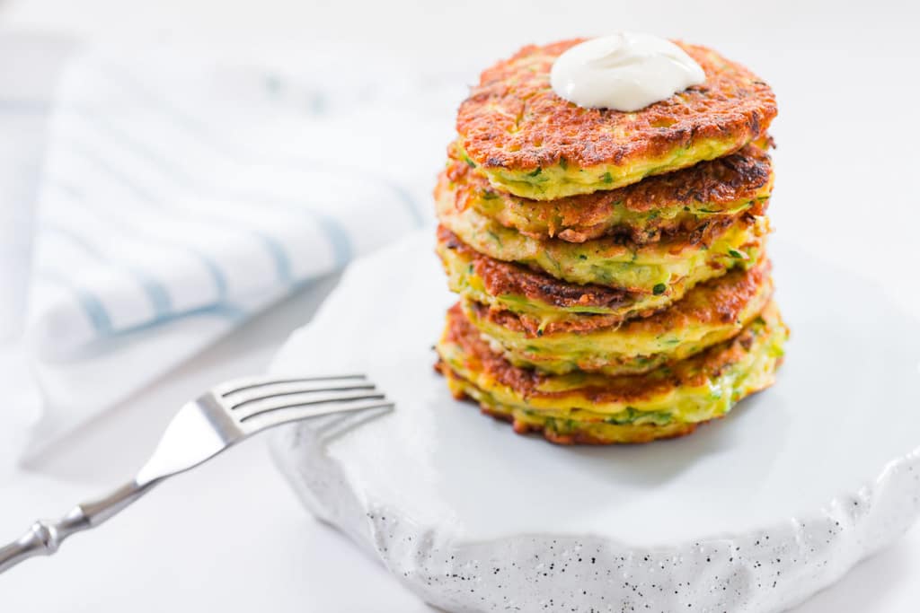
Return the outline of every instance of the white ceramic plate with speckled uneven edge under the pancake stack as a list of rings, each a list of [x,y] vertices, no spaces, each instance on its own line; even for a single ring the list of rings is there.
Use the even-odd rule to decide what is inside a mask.
[[[279,372],[365,372],[397,410],[278,433],[305,503],[456,611],[775,611],[920,509],[920,331],[879,288],[770,244],[775,387],[681,439],[557,447],[454,401],[432,233],[352,266]],[[648,607],[646,607],[648,605]]]

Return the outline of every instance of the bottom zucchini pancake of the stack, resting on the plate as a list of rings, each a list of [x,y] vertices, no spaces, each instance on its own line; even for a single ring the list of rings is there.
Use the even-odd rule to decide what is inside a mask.
[[[475,399],[517,432],[539,431],[557,443],[629,443],[688,434],[769,386],[787,334],[770,303],[741,334],[671,367],[550,375],[513,366],[454,305],[438,353],[454,395]]]

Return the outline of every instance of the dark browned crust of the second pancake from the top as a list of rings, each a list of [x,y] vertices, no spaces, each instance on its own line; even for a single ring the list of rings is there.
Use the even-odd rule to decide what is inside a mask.
[[[488,179],[459,159],[454,144],[448,147],[448,157],[450,162],[444,174],[454,185],[454,202],[458,210],[465,210],[475,199],[500,199],[502,206],[520,210],[546,225],[546,233],[515,227],[519,232],[533,238],[558,237],[571,243],[583,243],[606,235],[646,244],[677,233],[694,233],[711,218],[659,216],[641,225],[611,225],[608,220],[615,208],[643,213],[675,207],[719,207],[755,200],[763,196],[773,180],[769,154],[759,146],[747,145],[737,153],[673,173],[650,176],[627,187],[547,201],[526,199],[495,189]],[[760,199],[754,202],[749,212],[763,215],[766,208],[767,201]]]

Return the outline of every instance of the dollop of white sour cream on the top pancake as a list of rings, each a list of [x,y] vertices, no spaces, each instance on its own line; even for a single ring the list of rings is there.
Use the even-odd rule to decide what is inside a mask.
[[[705,83],[706,74],[670,40],[619,32],[562,53],[549,82],[558,96],[580,107],[634,111]]]

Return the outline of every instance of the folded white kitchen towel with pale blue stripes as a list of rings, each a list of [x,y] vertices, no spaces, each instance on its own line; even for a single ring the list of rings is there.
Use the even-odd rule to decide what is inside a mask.
[[[29,290],[44,437],[431,220],[462,91],[354,65],[281,73],[175,49],[71,62]]]

